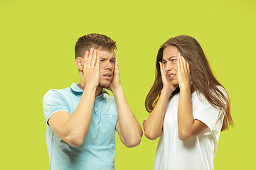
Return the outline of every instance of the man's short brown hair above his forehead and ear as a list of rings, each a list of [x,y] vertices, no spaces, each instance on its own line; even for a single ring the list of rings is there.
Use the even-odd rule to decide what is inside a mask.
[[[116,42],[106,35],[92,33],[78,38],[75,43],[75,58],[84,57],[91,47],[100,50],[117,50]]]

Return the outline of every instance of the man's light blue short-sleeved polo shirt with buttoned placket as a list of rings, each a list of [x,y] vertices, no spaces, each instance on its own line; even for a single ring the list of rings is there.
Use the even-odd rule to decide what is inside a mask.
[[[72,115],[82,93],[74,83],[67,89],[51,89],[43,97],[50,169],[114,169],[117,105],[106,90],[95,97],[90,128],[80,147],[68,145],[48,125],[50,116],[58,111],[68,111]]]

